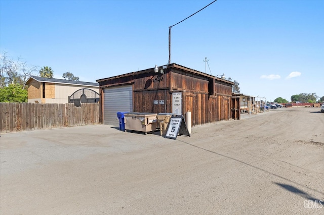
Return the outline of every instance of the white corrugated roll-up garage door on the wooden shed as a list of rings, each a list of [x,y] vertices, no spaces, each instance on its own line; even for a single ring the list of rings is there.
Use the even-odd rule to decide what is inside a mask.
[[[103,93],[103,123],[119,126],[117,112],[133,112],[133,85],[109,87]]]

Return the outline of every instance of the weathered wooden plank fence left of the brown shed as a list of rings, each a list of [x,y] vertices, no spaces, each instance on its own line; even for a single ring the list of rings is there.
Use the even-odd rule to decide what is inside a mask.
[[[2,103],[0,133],[63,128],[99,123],[99,103]]]

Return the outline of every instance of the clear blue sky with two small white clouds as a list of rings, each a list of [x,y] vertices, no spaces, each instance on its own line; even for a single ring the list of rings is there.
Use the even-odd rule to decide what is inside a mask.
[[[169,26],[211,2],[0,0],[0,51],[95,82],[166,65]],[[171,63],[205,72],[207,57],[241,93],[324,96],[322,0],[218,0],[171,31]]]

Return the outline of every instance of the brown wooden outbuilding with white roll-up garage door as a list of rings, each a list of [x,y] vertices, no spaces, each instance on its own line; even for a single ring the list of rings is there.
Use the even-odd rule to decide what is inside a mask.
[[[190,111],[192,126],[239,119],[233,82],[181,65],[155,66],[96,81],[104,124],[119,125],[117,112],[185,115]]]

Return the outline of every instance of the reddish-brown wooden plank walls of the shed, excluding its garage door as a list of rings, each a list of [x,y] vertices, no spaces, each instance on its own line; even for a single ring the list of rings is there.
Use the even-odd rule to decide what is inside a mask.
[[[172,92],[182,92],[182,113],[191,112],[192,126],[232,118],[231,83],[179,68],[168,68],[163,75],[149,69],[140,74],[102,80],[99,84],[101,89],[133,84],[134,112],[171,113]],[[154,104],[159,100],[164,100],[164,104]]]

